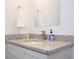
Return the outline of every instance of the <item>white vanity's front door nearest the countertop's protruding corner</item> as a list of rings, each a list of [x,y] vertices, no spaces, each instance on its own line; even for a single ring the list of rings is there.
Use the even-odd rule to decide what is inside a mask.
[[[32,51],[29,49],[24,49],[24,59],[48,59],[48,55]]]

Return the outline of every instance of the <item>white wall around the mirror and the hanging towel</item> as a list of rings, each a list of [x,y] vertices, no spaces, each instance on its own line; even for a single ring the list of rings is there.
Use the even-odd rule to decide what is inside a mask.
[[[6,34],[16,34],[16,5],[17,0],[6,0]],[[74,1],[73,0],[61,0],[60,6],[60,25],[52,27],[34,27],[33,21],[33,0],[22,0],[24,2],[24,17],[25,17],[25,29],[23,33],[40,33],[45,30],[47,33],[49,29],[53,29],[55,34],[58,35],[74,35]]]

